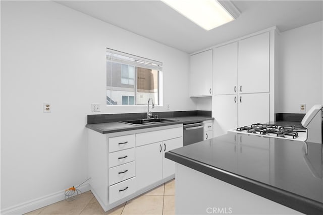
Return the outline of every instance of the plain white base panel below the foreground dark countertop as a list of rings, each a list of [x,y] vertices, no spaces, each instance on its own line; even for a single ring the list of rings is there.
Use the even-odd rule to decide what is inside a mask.
[[[176,214],[303,214],[176,164]]]

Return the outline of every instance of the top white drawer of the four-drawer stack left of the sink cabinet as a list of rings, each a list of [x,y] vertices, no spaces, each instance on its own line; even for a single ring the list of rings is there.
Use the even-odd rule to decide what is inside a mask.
[[[135,146],[135,134],[109,138],[109,153],[133,148]]]

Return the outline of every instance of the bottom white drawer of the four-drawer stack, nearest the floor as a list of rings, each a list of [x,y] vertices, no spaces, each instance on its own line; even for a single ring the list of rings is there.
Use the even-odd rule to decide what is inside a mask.
[[[135,177],[109,187],[109,203],[113,203],[136,192]]]

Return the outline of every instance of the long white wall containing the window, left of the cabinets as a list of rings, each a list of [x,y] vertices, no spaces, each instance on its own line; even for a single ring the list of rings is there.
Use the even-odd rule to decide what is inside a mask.
[[[165,107],[155,111],[196,109],[182,51],[49,1],[1,1],[1,33],[2,210],[88,177],[91,103],[101,113],[146,111],[105,107],[106,47],[163,62]]]

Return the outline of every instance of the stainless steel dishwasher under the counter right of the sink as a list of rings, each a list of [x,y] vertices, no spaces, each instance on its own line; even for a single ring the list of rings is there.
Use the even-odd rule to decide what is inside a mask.
[[[183,129],[184,146],[195,144],[195,142],[203,141],[203,122],[184,123]]]

